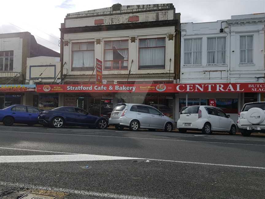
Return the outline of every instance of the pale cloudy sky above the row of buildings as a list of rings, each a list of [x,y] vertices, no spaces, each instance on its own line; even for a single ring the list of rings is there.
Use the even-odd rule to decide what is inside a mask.
[[[60,24],[67,13],[121,5],[173,3],[181,23],[230,19],[265,12],[265,0],[1,0],[0,33],[28,31],[36,41],[60,52]]]

